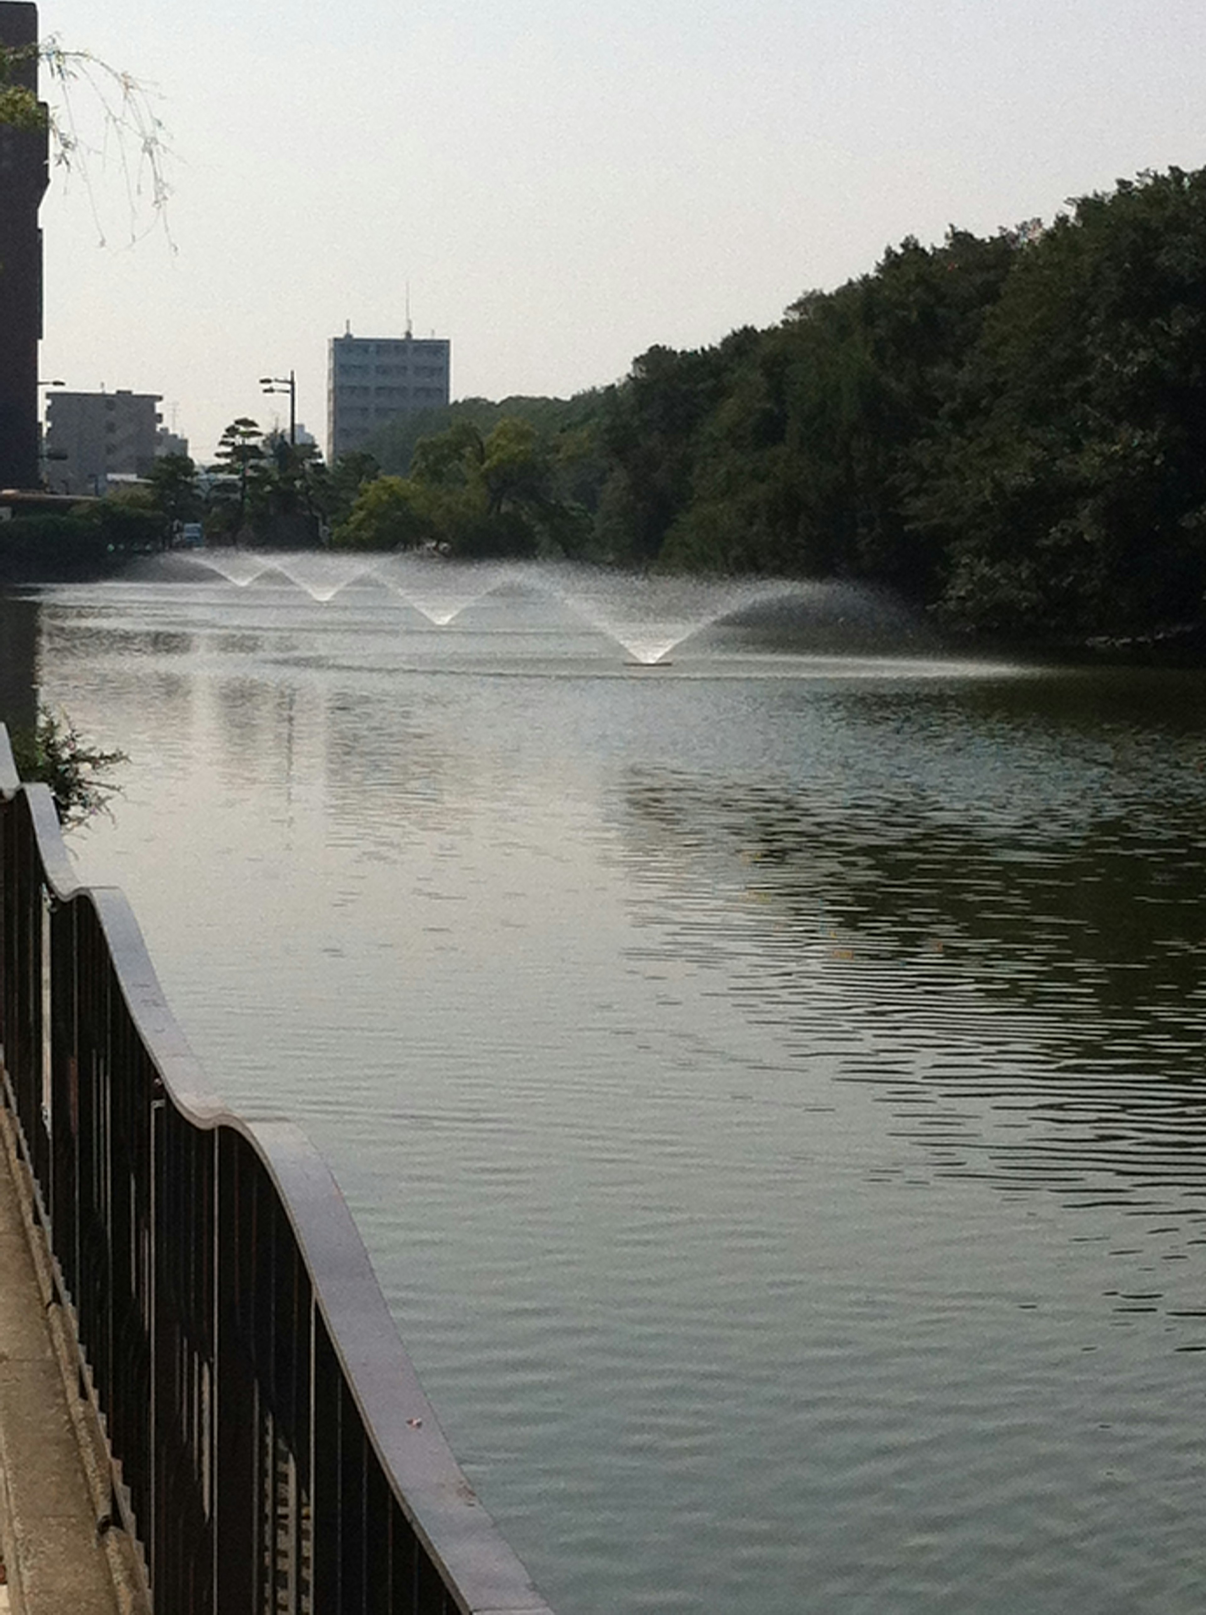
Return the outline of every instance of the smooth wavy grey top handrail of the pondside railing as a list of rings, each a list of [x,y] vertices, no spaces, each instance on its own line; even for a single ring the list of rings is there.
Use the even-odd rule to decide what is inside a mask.
[[[45,785],[23,785],[0,724],[0,803],[24,795],[42,880],[55,906],[95,916],[129,1019],[178,1118],[245,1140],[294,1232],[313,1298],[363,1431],[394,1499],[467,1615],[551,1615],[476,1500],[386,1307],[368,1252],[323,1156],[287,1118],[247,1119],[210,1087],[176,1021],[142,930],[116,887],[79,880]],[[53,1229],[48,1231],[53,1248]],[[84,1342],[87,1347],[87,1342]],[[121,1454],[115,1454],[121,1460]]]

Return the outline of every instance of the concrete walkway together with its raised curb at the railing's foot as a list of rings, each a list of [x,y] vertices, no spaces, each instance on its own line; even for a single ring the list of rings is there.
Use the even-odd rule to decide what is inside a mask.
[[[0,1105],[0,1597],[11,1615],[150,1615],[136,1544],[98,1531],[108,1454],[32,1206]]]

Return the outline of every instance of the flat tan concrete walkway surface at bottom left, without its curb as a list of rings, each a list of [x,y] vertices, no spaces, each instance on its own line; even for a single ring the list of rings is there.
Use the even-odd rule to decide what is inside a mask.
[[[121,1615],[0,1114],[0,1615]]]

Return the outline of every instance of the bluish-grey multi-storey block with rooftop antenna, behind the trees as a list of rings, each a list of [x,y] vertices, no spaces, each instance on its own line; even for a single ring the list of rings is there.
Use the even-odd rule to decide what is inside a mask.
[[[378,426],[449,401],[452,344],[442,336],[333,336],[326,370],[328,460]]]

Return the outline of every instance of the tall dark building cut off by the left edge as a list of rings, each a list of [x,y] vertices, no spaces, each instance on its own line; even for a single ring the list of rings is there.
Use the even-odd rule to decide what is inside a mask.
[[[0,45],[24,48],[10,82],[37,90],[37,6],[0,0]],[[45,129],[0,124],[0,488],[39,486],[37,344],[42,338]]]

